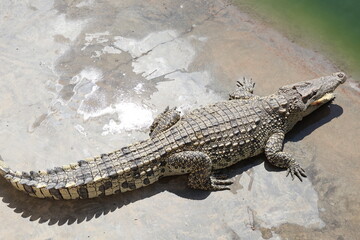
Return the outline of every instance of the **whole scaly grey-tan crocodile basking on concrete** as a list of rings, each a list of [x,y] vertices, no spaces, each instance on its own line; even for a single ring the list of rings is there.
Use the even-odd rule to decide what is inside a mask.
[[[188,174],[188,186],[225,190],[233,183],[215,171],[265,152],[274,166],[302,181],[305,171],[284,152],[285,134],[304,116],[332,101],[346,80],[342,72],[281,87],[260,97],[251,79],[237,82],[226,101],[181,116],[167,108],[150,137],[120,150],[50,170],[13,171],[0,160],[0,175],[38,198],[86,199],[135,190],[171,175]]]

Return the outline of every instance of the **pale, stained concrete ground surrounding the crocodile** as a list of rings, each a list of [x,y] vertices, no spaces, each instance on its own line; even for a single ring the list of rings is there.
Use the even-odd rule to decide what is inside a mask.
[[[229,2],[0,2],[0,154],[13,169],[61,166],[144,139],[167,105],[226,99],[338,71]],[[351,74],[351,73],[348,73]],[[0,239],[360,239],[359,88],[301,122],[285,149],[304,182],[264,162],[225,170],[230,191],[169,177],[105,198],[28,197],[0,179]]]

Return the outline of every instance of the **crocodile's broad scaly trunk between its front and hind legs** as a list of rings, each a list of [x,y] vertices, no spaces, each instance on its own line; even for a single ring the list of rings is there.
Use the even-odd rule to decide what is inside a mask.
[[[225,168],[261,153],[270,135],[283,129],[280,102],[275,95],[216,103],[185,115],[164,135],[175,151],[204,152],[214,169]]]

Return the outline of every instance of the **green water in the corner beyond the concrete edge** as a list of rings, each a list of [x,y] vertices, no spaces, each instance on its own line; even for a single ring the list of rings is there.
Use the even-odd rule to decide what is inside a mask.
[[[360,76],[360,0],[234,0],[295,42]]]

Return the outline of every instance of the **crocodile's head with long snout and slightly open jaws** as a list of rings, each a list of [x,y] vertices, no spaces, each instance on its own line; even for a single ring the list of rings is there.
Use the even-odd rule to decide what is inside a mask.
[[[333,73],[309,81],[283,86],[278,94],[288,100],[289,129],[303,117],[335,98],[334,90],[346,80],[345,73]]]

